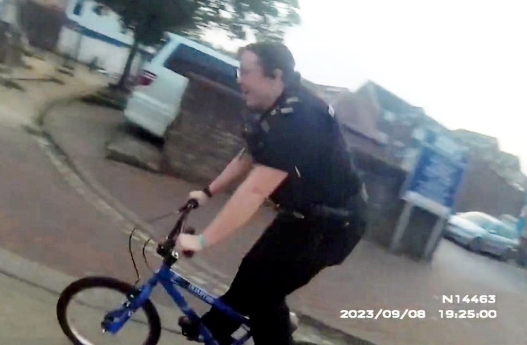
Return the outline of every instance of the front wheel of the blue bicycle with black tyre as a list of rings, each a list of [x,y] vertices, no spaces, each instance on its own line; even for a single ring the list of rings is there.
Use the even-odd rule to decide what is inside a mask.
[[[155,345],[161,335],[159,314],[150,300],[135,311],[123,327],[103,332],[103,322],[123,315],[123,306],[138,289],[109,277],[87,277],[67,286],[57,302],[62,331],[75,345]]]

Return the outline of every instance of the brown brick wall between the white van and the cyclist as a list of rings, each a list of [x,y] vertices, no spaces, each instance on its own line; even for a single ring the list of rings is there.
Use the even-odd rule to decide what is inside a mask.
[[[241,96],[190,78],[181,111],[165,135],[165,169],[195,182],[216,177],[243,147]]]

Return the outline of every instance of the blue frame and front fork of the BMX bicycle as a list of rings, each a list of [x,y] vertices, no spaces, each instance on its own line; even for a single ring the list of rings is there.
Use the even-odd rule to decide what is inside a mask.
[[[248,326],[249,319],[245,316],[242,316],[237,311],[233,310],[231,307],[223,303],[217,297],[210,295],[207,291],[202,288],[193,285],[187,279],[182,277],[179,273],[175,272],[170,268],[170,266],[165,263],[162,264],[161,268],[154,273],[152,278],[148,280],[139,290],[140,293],[137,296],[131,298],[127,303],[124,303],[123,307],[118,310],[110,311],[106,314],[105,319],[115,318],[115,321],[108,322],[105,324],[105,329],[110,333],[117,333],[121,327],[124,326],[124,323],[130,319],[132,314],[141,308],[142,304],[150,298],[150,295],[153,289],[161,283],[163,288],[167,293],[172,297],[174,302],[178,305],[181,311],[186,314],[191,320],[199,319],[198,314],[188,305],[187,301],[184,299],[183,295],[176,288],[179,286],[187,291],[189,291],[193,296],[199,298],[203,302],[208,303],[211,306],[217,307],[226,316],[239,321],[242,325]],[[212,337],[210,331],[203,324],[200,325],[200,334],[203,337],[203,341],[206,345],[218,345],[216,339]],[[241,337],[232,343],[232,345],[241,345],[251,338],[251,332],[248,331]]]

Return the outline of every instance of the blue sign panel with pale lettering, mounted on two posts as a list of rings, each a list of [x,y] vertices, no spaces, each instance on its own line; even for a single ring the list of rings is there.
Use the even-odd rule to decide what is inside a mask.
[[[428,140],[427,140],[428,139]],[[403,199],[434,214],[451,213],[463,180],[466,155],[455,148],[445,150],[427,136],[412,174],[406,181]]]

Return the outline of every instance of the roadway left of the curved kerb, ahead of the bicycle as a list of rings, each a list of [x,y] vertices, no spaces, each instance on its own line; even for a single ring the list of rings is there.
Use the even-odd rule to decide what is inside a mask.
[[[40,144],[22,128],[0,125],[2,344],[69,343],[55,316],[58,293],[68,283],[93,272],[135,278],[125,250],[116,250],[125,248],[127,237],[108,232],[126,224],[87,202]]]

